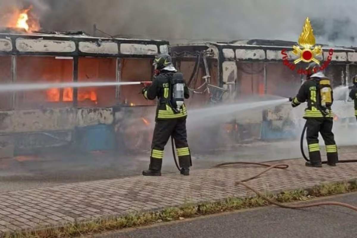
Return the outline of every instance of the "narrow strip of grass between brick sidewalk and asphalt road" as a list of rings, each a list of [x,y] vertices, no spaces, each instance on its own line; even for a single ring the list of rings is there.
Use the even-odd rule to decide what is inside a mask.
[[[296,189],[280,193],[269,193],[266,196],[276,202],[307,201],[316,197],[331,196],[357,191],[357,180],[326,183],[307,189]],[[165,208],[160,211],[131,213],[120,217],[107,217],[87,222],[66,224],[62,227],[42,228],[37,231],[19,231],[5,233],[4,238],[59,238],[74,237],[129,227],[145,226],[160,222],[169,222],[183,218],[192,218],[207,214],[235,211],[245,208],[267,206],[269,203],[261,197],[229,197],[216,202],[185,204],[180,207]]]

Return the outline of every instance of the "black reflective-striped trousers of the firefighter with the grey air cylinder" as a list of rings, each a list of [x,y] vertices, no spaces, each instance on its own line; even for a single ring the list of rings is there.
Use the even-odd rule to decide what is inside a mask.
[[[157,120],[151,144],[149,169],[160,171],[164,147],[170,136],[174,138],[178,163],[181,168],[192,166],[191,153],[187,143],[186,117]]]

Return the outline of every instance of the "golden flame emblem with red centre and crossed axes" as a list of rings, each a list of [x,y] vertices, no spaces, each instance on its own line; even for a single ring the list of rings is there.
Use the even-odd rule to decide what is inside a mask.
[[[297,64],[300,61],[303,62],[316,62],[317,64],[320,64],[320,61],[318,61],[315,56],[320,55],[322,53],[321,46],[315,46],[315,48],[312,49],[312,47],[315,45],[315,36],[313,35],[313,29],[310,24],[310,20],[307,17],[305,20],[305,24],[302,28],[302,32],[300,34],[298,44],[300,46],[293,46],[293,54],[300,56],[299,59],[296,59],[294,61],[294,64]]]

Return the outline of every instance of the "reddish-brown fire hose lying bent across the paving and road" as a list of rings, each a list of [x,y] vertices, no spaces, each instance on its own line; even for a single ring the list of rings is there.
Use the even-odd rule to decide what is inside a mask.
[[[228,163],[217,164],[215,167],[219,168],[219,167],[222,167],[224,165],[230,165],[230,164],[256,164],[256,165],[268,167],[264,171],[256,174],[255,176],[243,179],[241,181],[237,181],[235,183],[235,185],[242,185],[242,186],[246,187],[247,189],[249,189],[252,192],[254,192],[255,194],[257,194],[259,197],[265,199],[267,202],[269,202],[271,204],[274,204],[274,205],[276,205],[278,207],[298,209],[298,208],[308,208],[308,207],[318,207],[318,206],[341,206],[341,207],[346,207],[346,208],[350,208],[352,210],[357,211],[357,207],[352,206],[352,205],[347,204],[347,203],[342,203],[342,202],[316,202],[316,203],[301,204],[301,205],[286,205],[286,204],[282,204],[282,203],[278,203],[276,201],[273,201],[272,199],[268,198],[267,196],[265,196],[264,194],[259,192],[257,189],[255,189],[255,188],[253,188],[253,187],[251,187],[251,186],[249,186],[248,184],[245,183],[247,181],[250,181],[252,179],[255,179],[255,178],[259,177],[263,173],[266,173],[266,172],[268,172],[269,170],[271,170],[273,168],[286,169],[286,168],[289,167],[288,164],[274,164],[274,165],[271,165],[271,164],[266,164],[266,163],[254,163],[254,162],[228,162]]]

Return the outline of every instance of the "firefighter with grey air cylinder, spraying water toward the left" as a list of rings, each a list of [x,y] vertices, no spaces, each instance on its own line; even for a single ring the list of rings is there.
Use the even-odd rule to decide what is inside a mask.
[[[183,75],[177,72],[172,64],[171,56],[161,54],[154,60],[156,76],[150,87],[144,87],[142,93],[146,99],[158,98],[156,124],[151,144],[149,169],[143,171],[144,176],[161,176],[164,147],[172,136],[175,140],[181,174],[189,175],[191,154],[187,144],[186,117],[187,110],[184,98],[189,98],[188,88]]]

